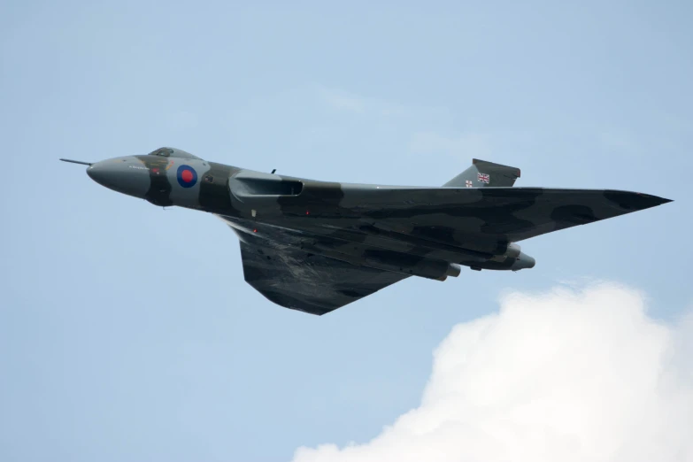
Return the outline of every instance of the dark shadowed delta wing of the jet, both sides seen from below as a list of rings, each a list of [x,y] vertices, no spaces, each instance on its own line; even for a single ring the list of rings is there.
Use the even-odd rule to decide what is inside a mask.
[[[438,279],[449,264],[480,266],[509,243],[670,202],[616,190],[309,182],[297,196],[244,199],[265,224],[242,231],[239,219],[222,218],[241,239],[245,280],[273,303],[313,314],[401,281],[407,267]]]

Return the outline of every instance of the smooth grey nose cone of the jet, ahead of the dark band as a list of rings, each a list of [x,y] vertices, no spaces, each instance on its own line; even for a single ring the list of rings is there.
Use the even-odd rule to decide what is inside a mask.
[[[96,162],[87,167],[89,178],[123,194],[144,197],[150,187],[149,169],[127,158]]]

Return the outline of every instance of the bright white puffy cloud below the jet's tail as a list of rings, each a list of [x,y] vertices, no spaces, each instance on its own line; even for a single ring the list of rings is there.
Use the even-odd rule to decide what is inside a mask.
[[[512,293],[435,351],[420,407],[371,442],[294,462],[693,460],[693,316],[599,284]]]

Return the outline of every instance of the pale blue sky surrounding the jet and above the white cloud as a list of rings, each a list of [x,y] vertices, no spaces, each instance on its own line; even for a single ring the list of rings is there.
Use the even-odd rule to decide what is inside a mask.
[[[289,460],[416,406],[509,290],[609,280],[690,305],[687,2],[0,6],[0,459]],[[235,235],[81,166],[175,146],[309,178],[674,199],[522,243],[520,273],[409,280],[325,317],[243,282]]]

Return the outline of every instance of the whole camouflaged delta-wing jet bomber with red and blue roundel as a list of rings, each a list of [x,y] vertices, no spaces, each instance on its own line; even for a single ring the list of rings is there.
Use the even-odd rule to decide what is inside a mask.
[[[671,202],[610,189],[513,188],[520,169],[474,159],[442,187],[314,181],[209,162],[173,148],[89,163],[92,180],[163,207],[223,219],[245,281],[275,304],[322,315],[410,276],[463,266],[518,271],[518,243]]]

